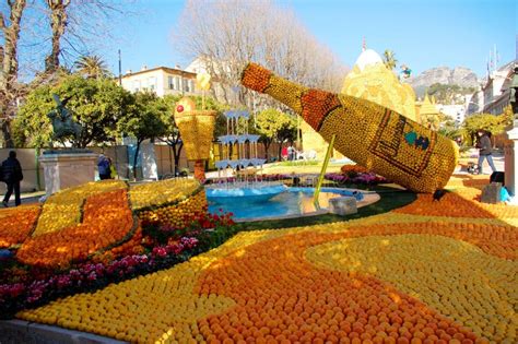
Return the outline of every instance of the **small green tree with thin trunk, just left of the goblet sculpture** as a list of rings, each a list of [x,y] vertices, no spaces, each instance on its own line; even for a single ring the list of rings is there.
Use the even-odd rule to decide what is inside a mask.
[[[166,126],[162,118],[164,114],[167,114],[167,104],[154,93],[139,92],[134,95],[133,109],[117,122],[117,131],[120,134],[128,134],[137,140],[133,157],[134,177],[137,177],[137,158],[141,143],[144,140],[153,140],[166,133]]]

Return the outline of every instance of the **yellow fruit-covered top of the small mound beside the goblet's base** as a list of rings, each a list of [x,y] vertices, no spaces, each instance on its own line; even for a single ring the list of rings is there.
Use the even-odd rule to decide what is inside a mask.
[[[187,178],[142,183],[130,189],[131,205],[133,211],[143,211],[177,203],[189,198],[198,189],[200,189],[200,182]]]

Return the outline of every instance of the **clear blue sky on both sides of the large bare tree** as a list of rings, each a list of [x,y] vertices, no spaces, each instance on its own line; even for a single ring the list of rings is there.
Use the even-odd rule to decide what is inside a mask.
[[[251,1],[251,0],[243,0]],[[362,50],[396,52],[414,75],[438,66],[472,69],[485,75],[490,50],[497,47],[499,64],[516,58],[518,1],[515,0],[282,0],[322,44],[344,64],[353,66]],[[142,66],[186,67],[174,51],[170,32],[184,1],[145,0],[136,4],[142,13],[114,33],[119,37],[102,51],[110,70],[118,73],[117,49],[122,51],[122,72]],[[123,38],[122,38],[123,37]]]

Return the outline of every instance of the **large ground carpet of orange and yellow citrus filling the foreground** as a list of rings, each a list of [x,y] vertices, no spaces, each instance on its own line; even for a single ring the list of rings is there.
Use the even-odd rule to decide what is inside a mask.
[[[16,318],[137,343],[516,343],[518,211],[478,202],[480,180],[375,216],[242,232]]]

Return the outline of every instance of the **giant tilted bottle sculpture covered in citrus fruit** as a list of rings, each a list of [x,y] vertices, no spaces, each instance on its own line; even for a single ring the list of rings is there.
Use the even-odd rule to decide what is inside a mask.
[[[417,192],[448,182],[458,162],[454,141],[372,102],[297,85],[249,63],[242,83],[291,107],[334,149],[357,164]]]

